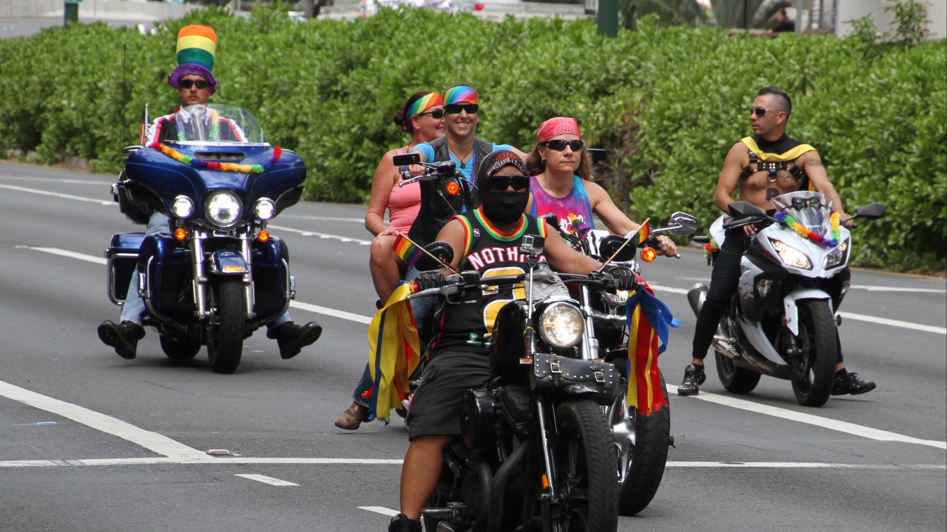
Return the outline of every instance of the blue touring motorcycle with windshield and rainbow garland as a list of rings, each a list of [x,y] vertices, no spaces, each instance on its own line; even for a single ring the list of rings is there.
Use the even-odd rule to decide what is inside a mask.
[[[299,201],[306,166],[266,143],[240,107],[192,105],[164,127],[176,130],[173,140],[125,148],[112,192],[135,223],[157,211],[168,230],[113,235],[109,299],[126,300],[137,267],[142,324],[157,329],[165,355],[186,360],[206,345],[213,371],[233,373],[243,339],[295,298],[288,249],[266,225]]]

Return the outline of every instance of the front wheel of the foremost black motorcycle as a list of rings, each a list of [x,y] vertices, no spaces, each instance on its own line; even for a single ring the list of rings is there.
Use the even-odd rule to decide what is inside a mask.
[[[550,530],[612,532],[618,527],[615,451],[599,405],[565,401],[556,409],[558,431],[550,438],[556,488],[563,511]]]

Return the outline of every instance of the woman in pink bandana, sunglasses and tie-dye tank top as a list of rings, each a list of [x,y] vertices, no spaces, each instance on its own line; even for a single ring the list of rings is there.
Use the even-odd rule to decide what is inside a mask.
[[[580,237],[595,229],[593,215],[616,234],[638,229],[605,189],[590,180],[592,161],[576,119],[556,117],[543,122],[527,156],[527,171],[532,175],[527,211],[533,216],[555,212],[560,227]],[[658,238],[663,245],[658,254],[672,257],[677,253],[670,238]]]

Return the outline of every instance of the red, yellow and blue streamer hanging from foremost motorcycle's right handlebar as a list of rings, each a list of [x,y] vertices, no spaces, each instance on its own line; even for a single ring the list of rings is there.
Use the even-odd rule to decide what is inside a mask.
[[[680,322],[671,316],[668,305],[654,297],[651,286],[647,284],[628,299],[625,313],[629,327],[625,402],[638,412],[651,415],[662,406],[668,406],[667,397],[661,393],[657,356],[668,348],[670,327],[676,327]]]

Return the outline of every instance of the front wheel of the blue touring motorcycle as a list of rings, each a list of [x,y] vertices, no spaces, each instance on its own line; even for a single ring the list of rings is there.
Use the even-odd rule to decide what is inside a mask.
[[[211,288],[211,306],[217,309],[207,341],[207,358],[214,373],[234,373],[240,365],[246,325],[245,296],[240,278],[224,277]]]

